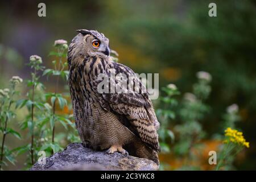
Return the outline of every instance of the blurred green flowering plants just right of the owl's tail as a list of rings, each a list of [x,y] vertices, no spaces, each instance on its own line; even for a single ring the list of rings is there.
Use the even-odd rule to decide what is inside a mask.
[[[202,77],[202,75],[205,77]],[[192,154],[192,147],[194,149],[200,149],[201,147],[199,141],[204,138],[205,132],[200,121],[209,111],[209,107],[203,101],[210,94],[210,75],[206,72],[198,72],[197,77],[199,80],[193,85],[193,93],[185,93],[183,100],[179,104],[172,98],[172,96],[179,94],[176,86],[170,84],[163,88],[167,96],[160,97],[160,100],[167,106],[157,110],[162,124],[159,138],[162,140],[163,152],[171,152],[171,147],[166,143],[166,136],[174,139],[175,133],[175,144],[172,147],[172,152],[177,156],[186,157],[188,160],[196,160],[196,156]],[[178,119],[179,122],[175,123],[173,133],[171,130],[166,129],[166,126],[170,126],[170,124],[167,125],[166,121],[174,123],[174,119]],[[174,142],[172,141],[172,143]],[[187,164],[184,164],[182,169],[185,168],[189,169]]]

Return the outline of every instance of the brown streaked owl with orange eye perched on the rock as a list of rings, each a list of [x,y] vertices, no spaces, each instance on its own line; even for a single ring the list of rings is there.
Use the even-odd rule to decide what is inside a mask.
[[[84,146],[147,158],[159,164],[156,118],[148,93],[98,92],[98,76],[134,72],[110,59],[109,39],[94,30],[77,30],[68,49],[69,88],[76,127]],[[114,83],[118,84],[118,78]],[[146,90],[138,77],[139,90]],[[111,80],[110,80],[111,82]]]

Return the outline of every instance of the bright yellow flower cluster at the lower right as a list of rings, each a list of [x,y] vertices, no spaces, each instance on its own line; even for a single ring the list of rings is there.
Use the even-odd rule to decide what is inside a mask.
[[[245,146],[249,148],[249,142],[246,142],[245,138],[243,138],[243,133],[237,130],[233,130],[230,127],[228,127],[225,130],[225,136],[227,137],[226,140],[224,140],[224,143],[236,143],[240,146]]]

